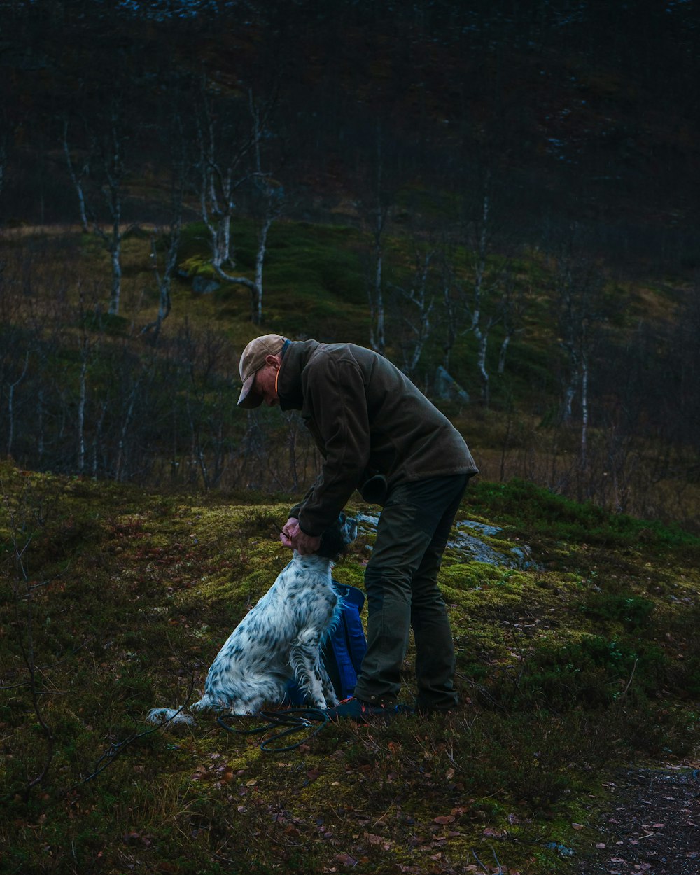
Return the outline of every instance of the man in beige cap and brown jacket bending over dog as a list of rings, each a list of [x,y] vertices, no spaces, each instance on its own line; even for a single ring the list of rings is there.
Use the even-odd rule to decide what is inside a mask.
[[[382,507],[365,571],[367,655],[354,698],[332,717],[396,711],[410,627],[416,706],[451,710],[454,647],[437,571],[467,480],[477,473],[458,430],[397,367],[353,344],[266,334],[243,351],[241,377],[240,407],[300,410],[324,457],[283,527],[286,547],[315,552],[355,489]]]

